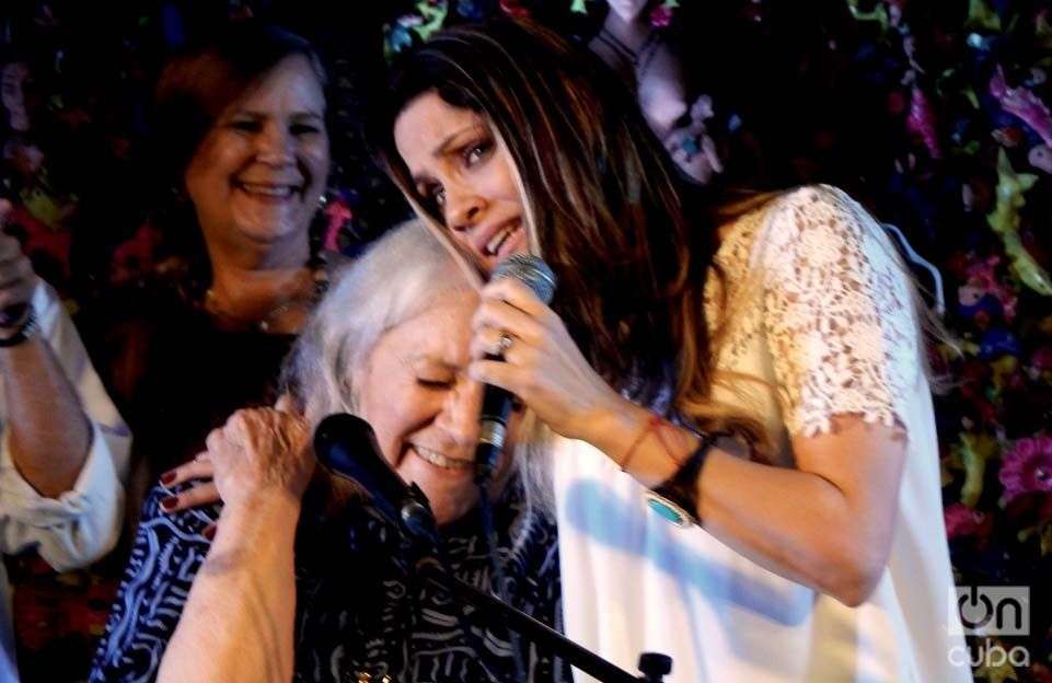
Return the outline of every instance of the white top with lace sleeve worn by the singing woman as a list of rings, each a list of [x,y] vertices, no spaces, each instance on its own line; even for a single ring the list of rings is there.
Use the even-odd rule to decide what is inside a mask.
[[[935,420],[911,290],[891,243],[851,198],[816,186],[739,219],[716,258],[732,320],[718,367],[752,378],[716,395],[762,418],[783,464],[793,462],[790,436],[828,432],[835,415],[906,433],[888,568],[866,603],[847,607],[701,529],[672,526],[602,453],[560,440],[554,472],[568,635],[633,672],[640,651],[671,655],[667,680],[682,683],[970,681],[967,664],[951,663],[966,658],[950,657],[963,644],[948,599]],[[707,293],[715,313],[717,292]]]

